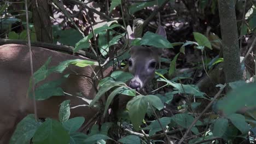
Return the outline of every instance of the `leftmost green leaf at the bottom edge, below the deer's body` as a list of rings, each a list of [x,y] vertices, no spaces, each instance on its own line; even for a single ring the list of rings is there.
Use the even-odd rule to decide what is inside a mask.
[[[13,136],[11,136],[10,144],[30,143],[39,125],[40,123],[35,121],[34,115],[27,115],[18,123]]]

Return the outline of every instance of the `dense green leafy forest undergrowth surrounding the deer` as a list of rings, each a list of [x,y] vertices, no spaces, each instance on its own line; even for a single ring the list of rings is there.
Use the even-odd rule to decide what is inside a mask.
[[[0,45],[26,44],[25,1],[0,4]],[[92,119],[71,118],[70,109],[75,108],[65,100],[59,119],[35,121],[33,113],[22,119],[10,143],[254,143],[255,4],[253,0],[28,1],[32,46],[91,59],[78,57],[49,66],[54,59],[49,56],[34,70],[36,100],[66,94],[61,83],[69,76],[64,73],[68,67],[97,66],[97,76],[90,77],[96,95],[85,101],[99,112]],[[159,26],[167,38],[155,33]],[[153,80],[141,91],[129,87],[132,46],[162,49]],[[108,68],[112,73],[98,79]],[[47,81],[53,73],[63,77]],[[29,85],[27,95],[33,98],[32,77]],[[121,95],[130,100],[123,111],[115,110]],[[83,95],[77,92],[73,97]]]

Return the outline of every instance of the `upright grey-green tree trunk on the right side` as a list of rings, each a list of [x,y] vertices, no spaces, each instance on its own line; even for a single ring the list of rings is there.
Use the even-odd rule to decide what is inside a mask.
[[[226,83],[242,79],[234,0],[218,0]]]

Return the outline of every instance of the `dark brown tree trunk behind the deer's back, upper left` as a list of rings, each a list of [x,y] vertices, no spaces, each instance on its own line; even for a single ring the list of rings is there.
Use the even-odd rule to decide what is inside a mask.
[[[48,7],[48,1],[32,0],[33,8],[33,22],[36,30],[37,40],[53,43],[53,36],[51,31],[51,20]]]

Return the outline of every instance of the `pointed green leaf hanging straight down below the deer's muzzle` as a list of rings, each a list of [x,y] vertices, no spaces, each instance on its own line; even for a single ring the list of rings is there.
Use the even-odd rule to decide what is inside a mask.
[[[127,103],[126,108],[129,110],[133,127],[138,130],[147,112],[148,99],[144,95],[138,95]]]

